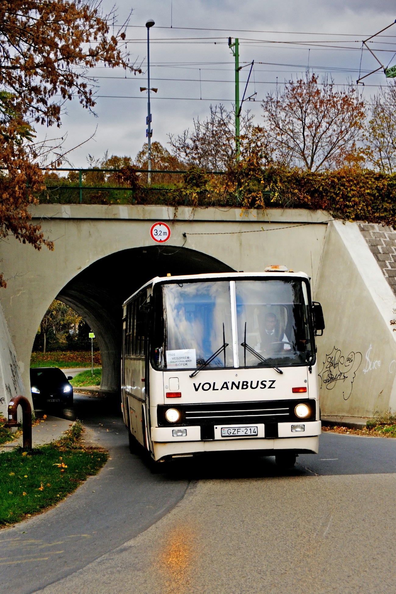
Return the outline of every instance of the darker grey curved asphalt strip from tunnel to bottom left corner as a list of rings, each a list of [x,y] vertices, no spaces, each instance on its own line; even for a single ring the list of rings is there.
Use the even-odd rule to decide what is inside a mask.
[[[79,395],[74,402],[64,416],[83,419],[110,460],[52,510],[0,530],[1,592],[27,594],[68,576],[147,529],[185,494],[186,478],[153,474],[129,453],[118,406]]]

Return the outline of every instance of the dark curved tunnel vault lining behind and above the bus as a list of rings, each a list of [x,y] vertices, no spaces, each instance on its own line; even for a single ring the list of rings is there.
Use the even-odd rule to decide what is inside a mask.
[[[91,264],[56,296],[77,311],[94,331],[102,356],[100,390],[121,387],[122,304],[156,276],[233,272],[216,258],[188,248],[152,246],[125,249]]]

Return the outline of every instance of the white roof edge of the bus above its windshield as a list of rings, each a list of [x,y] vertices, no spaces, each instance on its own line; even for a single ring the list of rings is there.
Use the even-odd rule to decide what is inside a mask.
[[[287,278],[303,278],[309,280],[308,274],[305,272],[211,272],[207,274],[182,274],[179,276],[156,276],[153,279],[149,280],[147,283],[139,287],[137,291],[132,293],[128,299],[125,299],[122,305],[128,304],[131,299],[134,298],[135,295],[140,293],[142,289],[146,287],[154,287],[158,283],[177,283],[180,280],[233,280],[233,279],[262,279],[262,278],[271,278],[271,279],[284,279]]]

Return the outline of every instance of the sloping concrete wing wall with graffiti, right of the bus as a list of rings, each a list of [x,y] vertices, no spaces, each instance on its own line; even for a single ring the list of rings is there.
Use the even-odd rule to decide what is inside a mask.
[[[356,223],[328,225],[315,299],[322,415],[396,410],[396,297]]]

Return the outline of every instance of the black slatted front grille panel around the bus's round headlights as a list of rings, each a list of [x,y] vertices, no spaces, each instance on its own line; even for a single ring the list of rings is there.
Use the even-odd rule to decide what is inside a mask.
[[[159,426],[175,425],[240,425],[268,422],[301,421],[294,414],[294,407],[305,403],[311,409],[311,415],[304,421],[313,421],[316,418],[315,400],[265,400],[265,402],[221,402],[197,405],[167,405],[158,406],[157,416]],[[178,423],[166,421],[165,411],[176,408],[181,413]]]

